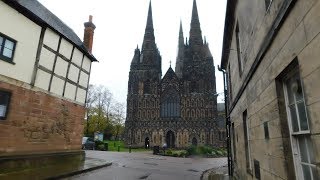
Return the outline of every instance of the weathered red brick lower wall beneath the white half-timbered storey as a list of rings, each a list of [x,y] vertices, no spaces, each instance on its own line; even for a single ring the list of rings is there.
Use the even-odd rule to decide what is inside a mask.
[[[6,120],[0,120],[0,155],[80,150],[83,106],[8,83],[12,93]]]

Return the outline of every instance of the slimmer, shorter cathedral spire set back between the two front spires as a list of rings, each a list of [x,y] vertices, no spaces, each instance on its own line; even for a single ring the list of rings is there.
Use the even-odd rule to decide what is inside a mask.
[[[176,59],[176,74],[178,77],[182,77],[182,67],[184,59],[184,37],[182,30],[182,22],[180,20],[180,29],[179,29],[179,41],[178,41],[178,55]]]

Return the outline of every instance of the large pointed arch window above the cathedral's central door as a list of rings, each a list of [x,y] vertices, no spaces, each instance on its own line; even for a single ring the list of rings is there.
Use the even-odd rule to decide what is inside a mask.
[[[180,96],[171,89],[161,98],[161,117],[180,117]]]

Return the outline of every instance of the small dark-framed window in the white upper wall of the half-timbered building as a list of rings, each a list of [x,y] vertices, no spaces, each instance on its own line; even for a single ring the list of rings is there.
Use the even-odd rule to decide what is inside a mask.
[[[0,33],[0,59],[12,62],[16,41]]]

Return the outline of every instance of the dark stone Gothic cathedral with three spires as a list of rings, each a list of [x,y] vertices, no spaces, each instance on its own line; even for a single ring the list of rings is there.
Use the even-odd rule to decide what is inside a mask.
[[[162,77],[161,55],[153,29],[151,2],[141,50],[130,66],[125,143],[132,147],[223,146],[217,138],[217,96],[213,57],[203,40],[193,1],[189,40],[182,24],[175,71]]]

